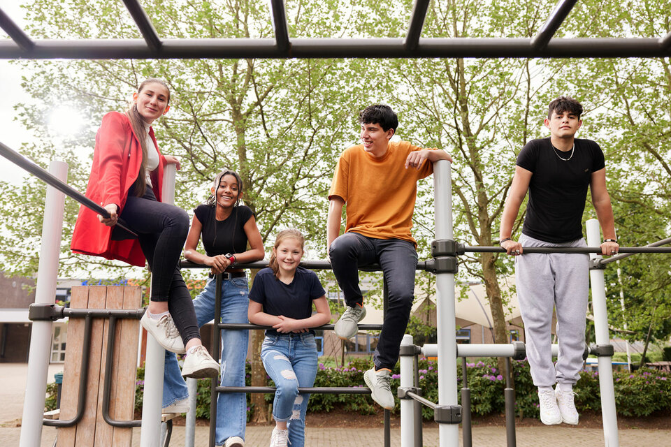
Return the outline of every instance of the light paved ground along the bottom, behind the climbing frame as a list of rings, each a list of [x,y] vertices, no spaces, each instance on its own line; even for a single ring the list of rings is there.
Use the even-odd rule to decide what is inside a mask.
[[[0,447],[19,445],[20,421],[23,413],[23,396],[25,393],[25,376],[27,364],[0,363]],[[50,365],[49,379],[53,381],[56,372],[62,365]],[[41,446],[52,447],[56,439],[55,427],[43,427]],[[247,427],[245,445],[247,447],[266,447],[270,442],[273,427]],[[438,425],[424,427],[424,447],[438,446]],[[319,447],[361,447],[382,446],[384,434],[381,428],[312,428],[310,414],[306,432],[306,446]],[[461,445],[461,430],[459,430]],[[593,428],[554,425],[549,427],[517,427],[517,446],[519,447],[596,447],[603,446],[603,430]],[[620,447],[671,447],[671,430],[620,429]],[[196,446],[208,446],[208,427],[196,427]],[[473,427],[473,446],[505,446],[505,427]],[[183,446],[185,443],[185,427],[174,427],[171,446]],[[391,430],[391,445],[401,444],[401,430]],[[140,446],[140,429],[133,430],[133,446]]]

